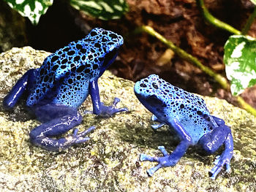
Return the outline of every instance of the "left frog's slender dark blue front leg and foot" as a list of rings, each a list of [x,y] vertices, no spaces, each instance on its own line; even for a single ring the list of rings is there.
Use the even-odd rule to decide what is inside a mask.
[[[93,104],[93,112],[95,115],[99,115],[101,117],[110,117],[116,112],[128,111],[127,108],[116,108],[116,104],[120,101],[120,99],[115,98],[113,101],[113,105],[105,106],[99,99],[99,87],[98,80],[91,80],[89,83],[89,93],[91,95],[91,101]]]

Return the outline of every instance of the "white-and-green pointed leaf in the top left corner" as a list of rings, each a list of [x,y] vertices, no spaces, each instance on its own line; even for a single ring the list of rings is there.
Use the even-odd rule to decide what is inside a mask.
[[[41,15],[45,14],[48,7],[53,4],[53,0],[5,0],[17,10],[23,17],[29,18],[31,23],[37,25]]]

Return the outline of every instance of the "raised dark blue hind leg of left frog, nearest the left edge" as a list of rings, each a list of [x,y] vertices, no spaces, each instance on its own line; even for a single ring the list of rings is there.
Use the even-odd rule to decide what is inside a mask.
[[[30,69],[28,72],[23,74],[23,76],[16,82],[12,90],[5,96],[3,105],[6,109],[11,109],[15,106],[20,96],[23,95],[24,91],[31,88],[34,85],[35,79],[37,77],[38,70]]]

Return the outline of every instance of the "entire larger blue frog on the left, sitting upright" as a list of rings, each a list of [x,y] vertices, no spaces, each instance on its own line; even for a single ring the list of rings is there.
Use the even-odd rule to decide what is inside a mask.
[[[42,125],[31,130],[31,143],[46,150],[59,151],[86,142],[94,126],[78,134],[82,116],[78,107],[91,95],[93,113],[110,117],[127,108],[116,109],[120,99],[112,106],[105,106],[99,99],[98,79],[113,63],[123,38],[102,28],[94,28],[84,39],[70,42],[45,58],[39,69],[30,69],[16,82],[4,98],[3,105],[15,106],[23,93],[28,94],[26,106],[36,115]],[[56,139],[70,129],[73,133]]]

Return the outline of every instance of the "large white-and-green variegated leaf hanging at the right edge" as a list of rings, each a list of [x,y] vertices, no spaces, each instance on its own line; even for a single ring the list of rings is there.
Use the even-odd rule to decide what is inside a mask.
[[[224,63],[231,93],[238,95],[256,83],[256,39],[233,35],[225,44]]]

